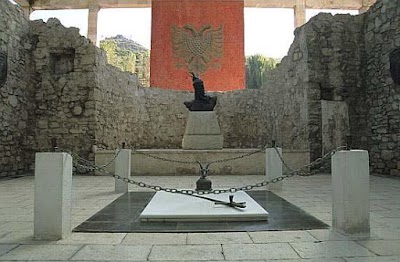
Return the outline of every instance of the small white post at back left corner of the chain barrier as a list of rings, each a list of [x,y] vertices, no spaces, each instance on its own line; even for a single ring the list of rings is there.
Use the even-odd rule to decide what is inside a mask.
[[[115,159],[115,174],[122,178],[131,177],[131,154],[130,149],[118,149],[121,150]],[[116,152],[118,153],[118,151]],[[121,179],[115,179],[115,192],[126,193],[128,192],[128,183]]]

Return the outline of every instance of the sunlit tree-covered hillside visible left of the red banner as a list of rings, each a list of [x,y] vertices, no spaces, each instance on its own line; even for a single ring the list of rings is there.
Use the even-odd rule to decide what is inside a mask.
[[[150,51],[121,35],[100,41],[100,48],[107,54],[108,63],[137,74],[142,86],[150,83]]]

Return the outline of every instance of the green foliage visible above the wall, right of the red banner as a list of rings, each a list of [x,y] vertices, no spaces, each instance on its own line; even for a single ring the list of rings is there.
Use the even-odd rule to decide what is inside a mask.
[[[263,86],[265,75],[279,63],[278,59],[260,54],[246,57],[246,88],[257,89]]]

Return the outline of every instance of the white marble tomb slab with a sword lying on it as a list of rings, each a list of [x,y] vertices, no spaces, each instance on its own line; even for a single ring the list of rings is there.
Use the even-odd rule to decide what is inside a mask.
[[[207,197],[229,202],[229,195],[206,195]],[[246,192],[233,194],[235,202],[246,202],[246,208],[232,208],[216,205],[211,201],[182,194],[157,192],[143,212],[141,221],[185,222],[185,221],[265,221],[268,212]]]

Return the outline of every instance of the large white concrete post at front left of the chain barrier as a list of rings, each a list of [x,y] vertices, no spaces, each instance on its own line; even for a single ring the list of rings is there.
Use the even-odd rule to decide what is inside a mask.
[[[58,240],[71,233],[72,157],[37,153],[35,158],[34,238]]]

